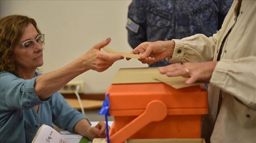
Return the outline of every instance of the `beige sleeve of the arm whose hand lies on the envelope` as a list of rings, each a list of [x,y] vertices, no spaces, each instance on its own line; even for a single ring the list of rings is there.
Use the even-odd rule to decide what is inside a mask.
[[[210,83],[256,110],[256,56],[220,60]]]

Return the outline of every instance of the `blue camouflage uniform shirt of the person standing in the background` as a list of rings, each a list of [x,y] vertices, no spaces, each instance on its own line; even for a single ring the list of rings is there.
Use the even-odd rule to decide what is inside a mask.
[[[221,28],[233,0],[133,0],[129,5],[128,42],[181,39],[197,33],[212,36]],[[166,60],[149,66],[166,66]]]

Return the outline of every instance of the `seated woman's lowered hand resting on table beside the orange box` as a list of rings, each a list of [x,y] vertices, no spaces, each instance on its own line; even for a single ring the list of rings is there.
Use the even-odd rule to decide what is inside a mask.
[[[108,129],[110,129],[110,126],[108,126]],[[107,137],[105,122],[100,121],[96,126],[90,128],[87,132],[87,137],[90,140],[93,140],[94,138],[105,138],[105,137]]]

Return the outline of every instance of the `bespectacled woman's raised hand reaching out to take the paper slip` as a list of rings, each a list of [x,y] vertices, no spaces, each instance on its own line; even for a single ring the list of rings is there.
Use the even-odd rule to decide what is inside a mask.
[[[110,43],[111,38],[107,38],[96,45],[94,45],[86,54],[83,55],[84,67],[86,70],[92,69],[97,72],[103,72],[108,69],[116,60],[121,60],[124,57],[122,55],[107,54],[100,51]]]

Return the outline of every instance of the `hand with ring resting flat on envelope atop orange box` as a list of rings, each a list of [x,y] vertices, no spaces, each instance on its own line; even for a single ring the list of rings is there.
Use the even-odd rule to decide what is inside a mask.
[[[195,83],[195,81],[203,81],[209,83],[212,72],[215,69],[217,61],[202,62],[202,63],[184,63],[183,65],[175,63],[169,66],[159,68],[161,74],[166,74],[169,77],[183,76],[190,77],[186,80],[186,84]]]

